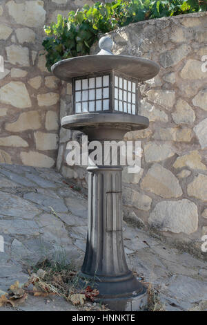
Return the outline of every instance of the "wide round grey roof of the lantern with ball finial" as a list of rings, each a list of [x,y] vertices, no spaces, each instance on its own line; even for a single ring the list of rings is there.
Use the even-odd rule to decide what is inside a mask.
[[[97,55],[63,59],[53,64],[52,73],[59,79],[70,82],[74,77],[117,71],[141,82],[155,77],[159,72],[159,65],[149,59],[130,55],[113,55],[112,44],[110,37],[101,37],[99,40],[101,50]]]

